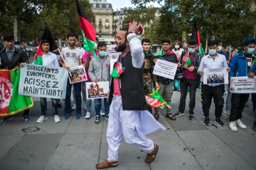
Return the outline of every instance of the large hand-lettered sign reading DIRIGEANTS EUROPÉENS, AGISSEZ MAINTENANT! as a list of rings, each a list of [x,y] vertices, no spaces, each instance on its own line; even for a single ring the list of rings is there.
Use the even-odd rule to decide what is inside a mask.
[[[24,64],[20,69],[19,95],[63,99],[67,80],[66,68]]]

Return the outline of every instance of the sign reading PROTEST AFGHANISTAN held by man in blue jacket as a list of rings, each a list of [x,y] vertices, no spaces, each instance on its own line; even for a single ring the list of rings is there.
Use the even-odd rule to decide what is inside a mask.
[[[256,78],[232,77],[230,91],[232,93],[256,93]]]

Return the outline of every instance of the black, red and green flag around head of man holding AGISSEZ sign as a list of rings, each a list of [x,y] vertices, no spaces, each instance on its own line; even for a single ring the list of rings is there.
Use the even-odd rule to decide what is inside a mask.
[[[46,23],[45,23],[46,24]],[[50,29],[48,25],[46,24],[46,27],[44,29],[44,34],[39,42],[38,50],[36,52],[36,55],[34,57],[34,62],[33,64],[37,65],[43,65],[43,51],[42,51],[42,46],[41,46],[41,41],[42,40],[48,40],[50,44],[50,51],[56,50],[58,48],[56,42],[54,41],[54,38],[50,32]]]

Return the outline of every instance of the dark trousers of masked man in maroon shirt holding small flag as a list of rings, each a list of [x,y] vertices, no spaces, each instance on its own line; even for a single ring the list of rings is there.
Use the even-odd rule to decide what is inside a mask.
[[[189,87],[189,111],[193,112],[196,106],[196,80],[183,78],[180,80],[180,105],[179,112],[184,113],[186,107],[187,90]]]

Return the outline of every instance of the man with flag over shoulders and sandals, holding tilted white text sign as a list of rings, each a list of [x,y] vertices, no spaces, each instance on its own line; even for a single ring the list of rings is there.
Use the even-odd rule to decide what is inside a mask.
[[[154,59],[154,63],[156,63],[156,60],[160,59],[160,60],[176,63],[178,64],[178,67],[181,66],[181,64],[177,60],[176,54],[172,50],[170,50],[170,40],[162,40],[162,50],[158,51],[155,57],[156,58]],[[172,93],[173,93],[174,80],[161,77],[161,76],[157,76],[157,80],[159,85],[158,92],[159,94],[162,94],[163,92],[165,92],[164,95],[165,95],[166,103],[170,106]],[[155,108],[154,118],[156,120],[159,118],[159,108]],[[169,118],[171,120],[176,120],[176,118],[172,115],[171,110],[169,108],[166,108],[166,118]]]

